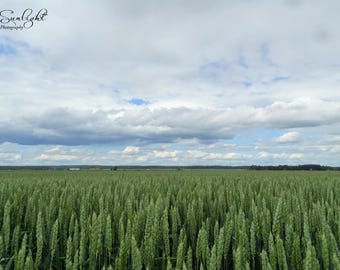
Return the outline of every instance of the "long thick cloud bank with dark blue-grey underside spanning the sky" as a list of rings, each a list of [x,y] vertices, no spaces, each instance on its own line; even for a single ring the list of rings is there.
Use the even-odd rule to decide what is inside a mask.
[[[333,101],[309,99],[276,102],[261,108],[151,109],[143,106],[95,112],[58,108],[37,116],[17,116],[11,122],[0,123],[0,136],[21,144],[126,145],[190,140],[212,144],[217,140],[232,139],[236,134],[258,126],[268,129],[321,129],[336,125],[340,123],[337,107]],[[115,115],[114,119],[111,119],[112,115]],[[45,134],[34,132],[42,129],[46,130]],[[299,133],[289,132],[274,141],[298,140]]]

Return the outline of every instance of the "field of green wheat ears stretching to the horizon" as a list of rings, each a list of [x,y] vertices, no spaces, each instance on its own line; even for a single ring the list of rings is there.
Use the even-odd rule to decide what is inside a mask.
[[[1,171],[0,269],[340,269],[340,173]]]

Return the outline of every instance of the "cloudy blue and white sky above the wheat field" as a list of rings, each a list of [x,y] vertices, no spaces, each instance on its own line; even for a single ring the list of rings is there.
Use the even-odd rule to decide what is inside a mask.
[[[0,4],[27,8],[0,16],[0,165],[340,165],[340,1]]]

